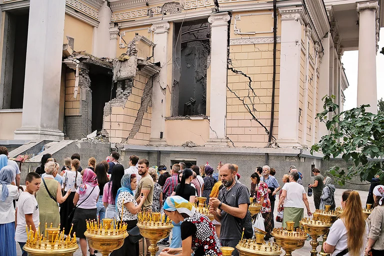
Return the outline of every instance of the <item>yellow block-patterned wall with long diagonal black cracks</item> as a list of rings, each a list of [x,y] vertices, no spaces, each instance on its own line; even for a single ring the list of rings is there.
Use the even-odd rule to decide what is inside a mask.
[[[234,33],[235,17],[247,15],[249,22],[237,23],[237,29],[247,32],[254,30],[258,24],[261,31],[268,31],[268,23],[262,25],[263,14],[257,12],[233,13],[230,38],[249,38],[249,35]],[[266,14],[265,14],[266,15]],[[269,14],[267,14],[269,15]],[[278,24],[278,27],[279,24]],[[257,31],[256,31],[257,32]],[[262,35],[272,36],[272,32]],[[277,36],[280,30],[277,29]],[[258,34],[252,35],[259,36]],[[240,43],[238,43],[240,42]],[[234,146],[264,147],[268,142],[270,124],[272,74],[273,74],[273,41],[271,43],[249,44],[246,40],[238,40],[229,47],[229,69],[227,70],[227,110],[226,134]],[[278,133],[278,98],[280,43],[276,52],[276,84],[274,103],[274,124],[272,135]]]

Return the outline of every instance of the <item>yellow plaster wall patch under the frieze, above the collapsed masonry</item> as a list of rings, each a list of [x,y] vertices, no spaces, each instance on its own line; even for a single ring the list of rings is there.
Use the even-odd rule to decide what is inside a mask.
[[[137,33],[138,35],[141,35],[141,36],[144,36],[146,38],[148,38],[149,40],[152,41],[152,32],[148,33],[148,28],[150,28],[150,26],[137,26],[137,27],[134,27],[134,28],[121,28],[120,29],[120,34],[124,31],[124,36],[122,36],[122,38],[124,39],[124,41],[126,43],[129,43],[133,37],[135,36],[135,34]],[[124,41],[122,41],[122,43],[124,43]],[[126,52],[126,47],[125,48],[120,48],[120,39],[117,39],[117,50],[116,50],[116,57],[120,56],[121,53],[125,53]],[[143,42],[139,42],[137,45],[136,45],[136,48],[137,48],[137,56],[139,57],[147,57],[147,56],[151,56],[152,55],[152,52],[149,52],[149,51],[146,51],[146,50],[141,50],[141,47],[139,44],[141,44]],[[124,43],[124,45],[126,46],[126,44]]]

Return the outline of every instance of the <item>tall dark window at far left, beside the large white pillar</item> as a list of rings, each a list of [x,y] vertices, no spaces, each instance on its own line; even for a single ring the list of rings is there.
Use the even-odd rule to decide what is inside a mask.
[[[22,108],[29,10],[4,13],[0,108]]]

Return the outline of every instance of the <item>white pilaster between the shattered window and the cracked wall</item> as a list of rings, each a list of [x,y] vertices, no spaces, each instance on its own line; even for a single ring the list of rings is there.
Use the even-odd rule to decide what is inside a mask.
[[[226,12],[211,14],[210,43],[210,119],[209,140],[206,146],[227,146],[226,138],[226,82],[228,52],[228,21]]]

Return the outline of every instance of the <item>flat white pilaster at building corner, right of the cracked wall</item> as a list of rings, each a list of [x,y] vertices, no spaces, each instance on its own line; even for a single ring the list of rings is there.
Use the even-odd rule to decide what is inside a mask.
[[[298,141],[298,107],[303,12],[301,8],[278,10],[281,13],[281,63],[277,144],[280,147],[301,147]]]

